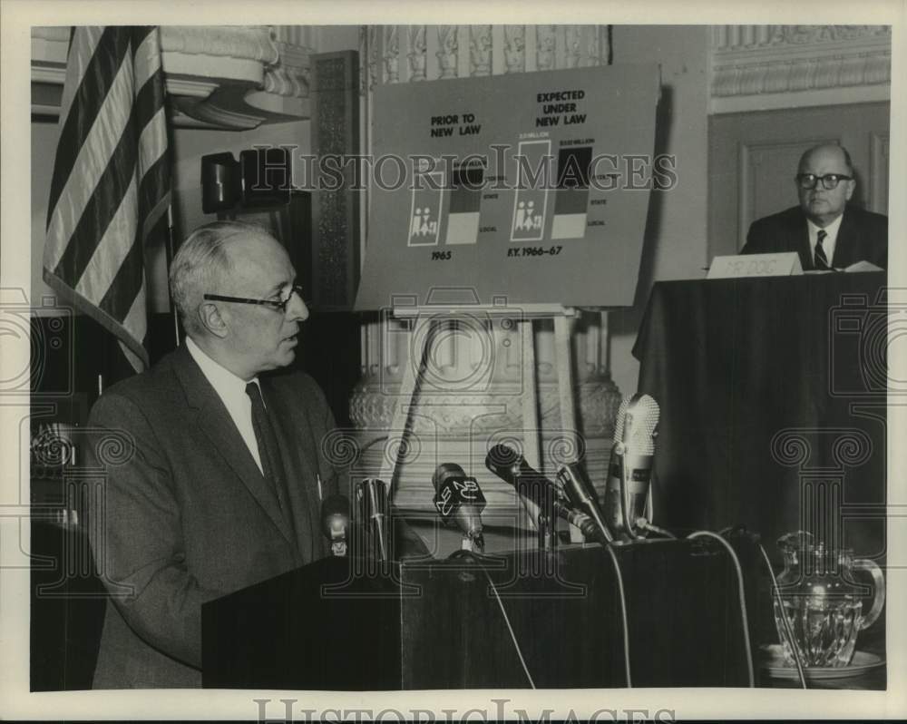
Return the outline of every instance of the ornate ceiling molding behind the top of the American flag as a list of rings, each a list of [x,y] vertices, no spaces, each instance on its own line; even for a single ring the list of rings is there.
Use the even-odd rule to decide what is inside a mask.
[[[307,119],[307,35],[265,25],[161,26],[171,120],[226,130]],[[59,113],[68,27],[32,29],[32,112]]]

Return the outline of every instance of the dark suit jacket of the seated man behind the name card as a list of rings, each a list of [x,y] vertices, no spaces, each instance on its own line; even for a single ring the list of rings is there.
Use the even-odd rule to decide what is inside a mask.
[[[771,254],[780,251],[796,251],[803,268],[814,269],[806,217],[799,206],[754,221],[740,253]],[[888,217],[848,206],[834,244],[832,266],[844,269],[863,260],[888,269]]]

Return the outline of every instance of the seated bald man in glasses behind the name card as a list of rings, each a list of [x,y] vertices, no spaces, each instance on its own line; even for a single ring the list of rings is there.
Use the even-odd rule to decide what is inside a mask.
[[[888,267],[888,217],[848,205],[856,181],[843,146],[815,146],[795,176],[800,205],[753,222],[743,254],[796,251],[803,269]]]

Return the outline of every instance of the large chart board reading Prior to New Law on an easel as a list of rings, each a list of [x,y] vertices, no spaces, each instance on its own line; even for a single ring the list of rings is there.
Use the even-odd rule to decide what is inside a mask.
[[[649,192],[677,181],[653,156],[659,86],[627,64],[376,88],[356,308],[632,304]]]

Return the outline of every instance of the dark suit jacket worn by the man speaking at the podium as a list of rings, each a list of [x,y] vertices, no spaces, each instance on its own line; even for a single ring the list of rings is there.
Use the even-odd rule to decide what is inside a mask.
[[[325,398],[301,372],[260,377],[278,418],[296,533],[227,408],[185,347],[93,406],[101,468],[90,538],[111,593],[95,689],[201,685],[201,604],[326,556],[322,494],[337,474]],[[122,447],[117,446],[117,441]]]

